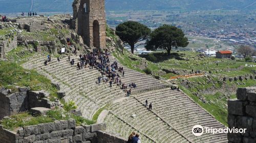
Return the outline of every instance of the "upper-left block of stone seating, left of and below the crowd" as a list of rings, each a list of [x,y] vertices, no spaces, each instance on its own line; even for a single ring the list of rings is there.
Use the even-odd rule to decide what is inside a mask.
[[[27,63],[27,67],[46,71],[46,73],[54,77],[52,79],[60,79],[61,82],[68,85],[66,90],[63,89],[67,92],[65,100],[75,101],[84,117],[92,118],[98,108],[125,96],[124,92],[118,90],[119,87],[115,85],[110,88],[109,84],[96,84],[100,73],[95,68],[77,70],[75,65],[70,65],[68,57],[60,59],[59,62],[57,58],[52,58],[47,66],[44,66],[46,56],[35,56],[32,59],[33,61]],[[75,62],[79,61],[75,55],[71,56],[71,59],[75,59]]]

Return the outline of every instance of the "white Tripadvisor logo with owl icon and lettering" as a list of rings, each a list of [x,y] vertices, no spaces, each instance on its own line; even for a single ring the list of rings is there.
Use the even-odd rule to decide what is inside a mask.
[[[209,128],[209,127],[202,127],[201,125],[195,125],[192,128],[192,133],[195,136],[201,136],[203,133],[206,134],[216,134],[216,133],[245,133],[246,129],[238,129],[238,128]]]

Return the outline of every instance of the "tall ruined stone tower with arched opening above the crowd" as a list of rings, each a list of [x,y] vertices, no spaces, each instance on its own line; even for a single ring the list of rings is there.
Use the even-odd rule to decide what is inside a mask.
[[[75,0],[72,26],[90,47],[106,47],[104,0]]]

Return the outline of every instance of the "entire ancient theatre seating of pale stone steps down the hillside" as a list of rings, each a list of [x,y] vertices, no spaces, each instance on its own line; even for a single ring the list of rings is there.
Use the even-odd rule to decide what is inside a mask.
[[[134,82],[137,88],[132,89],[132,97],[113,104],[126,93],[117,85],[112,88],[108,83],[98,85],[96,81],[101,74],[96,68],[77,70],[78,56],[75,55],[71,55],[71,59],[75,59],[74,66],[70,65],[67,57],[60,62],[52,58],[44,66],[46,59],[46,55],[37,54],[23,66],[36,69],[53,82],[60,83],[61,91],[66,92],[65,100],[74,101],[84,117],[92,118],[100,107],[111,104],[111,112],[105,118],[110,132],[127,137],[135,130],[141,134],[142,142],[227,142],[226,134],[194,136],[191,133],[194,125],[224,126],[184,93],[171,91],[151,76],[123,66],[125,75],[121,77],[122,82],[126,85]],[[111,62],[114,60],[112,57]],[[143,106],[145,99],[153,103],[152,111]],[[132,114],[136,117],[131,117]]]

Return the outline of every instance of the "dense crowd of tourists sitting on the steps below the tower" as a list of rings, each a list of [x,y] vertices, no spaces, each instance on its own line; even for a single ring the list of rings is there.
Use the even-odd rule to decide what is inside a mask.
[[[124,77],[123,67],[118,67],[118,63],[114,61],[110,63],[110,53],[108,50],[104,52],[93,49],[91,53],[79,55],[79,61],[77,62],[77,69],[81,70],[89,66],[90,69],[96,68],[100,71],[101,76],[97,78],[97,84],[100,83],[109,83],[112,88],[113,84],[117,84],[121,89],[126,91],[126,96],[131,96],[132,88],[137,88],[135,83],[129,84],[129,88],[122,83],[121,76]],[[70,61],[70,57],[69,57]],[[71,61],[71,65],[74,65],[74,59]]]

